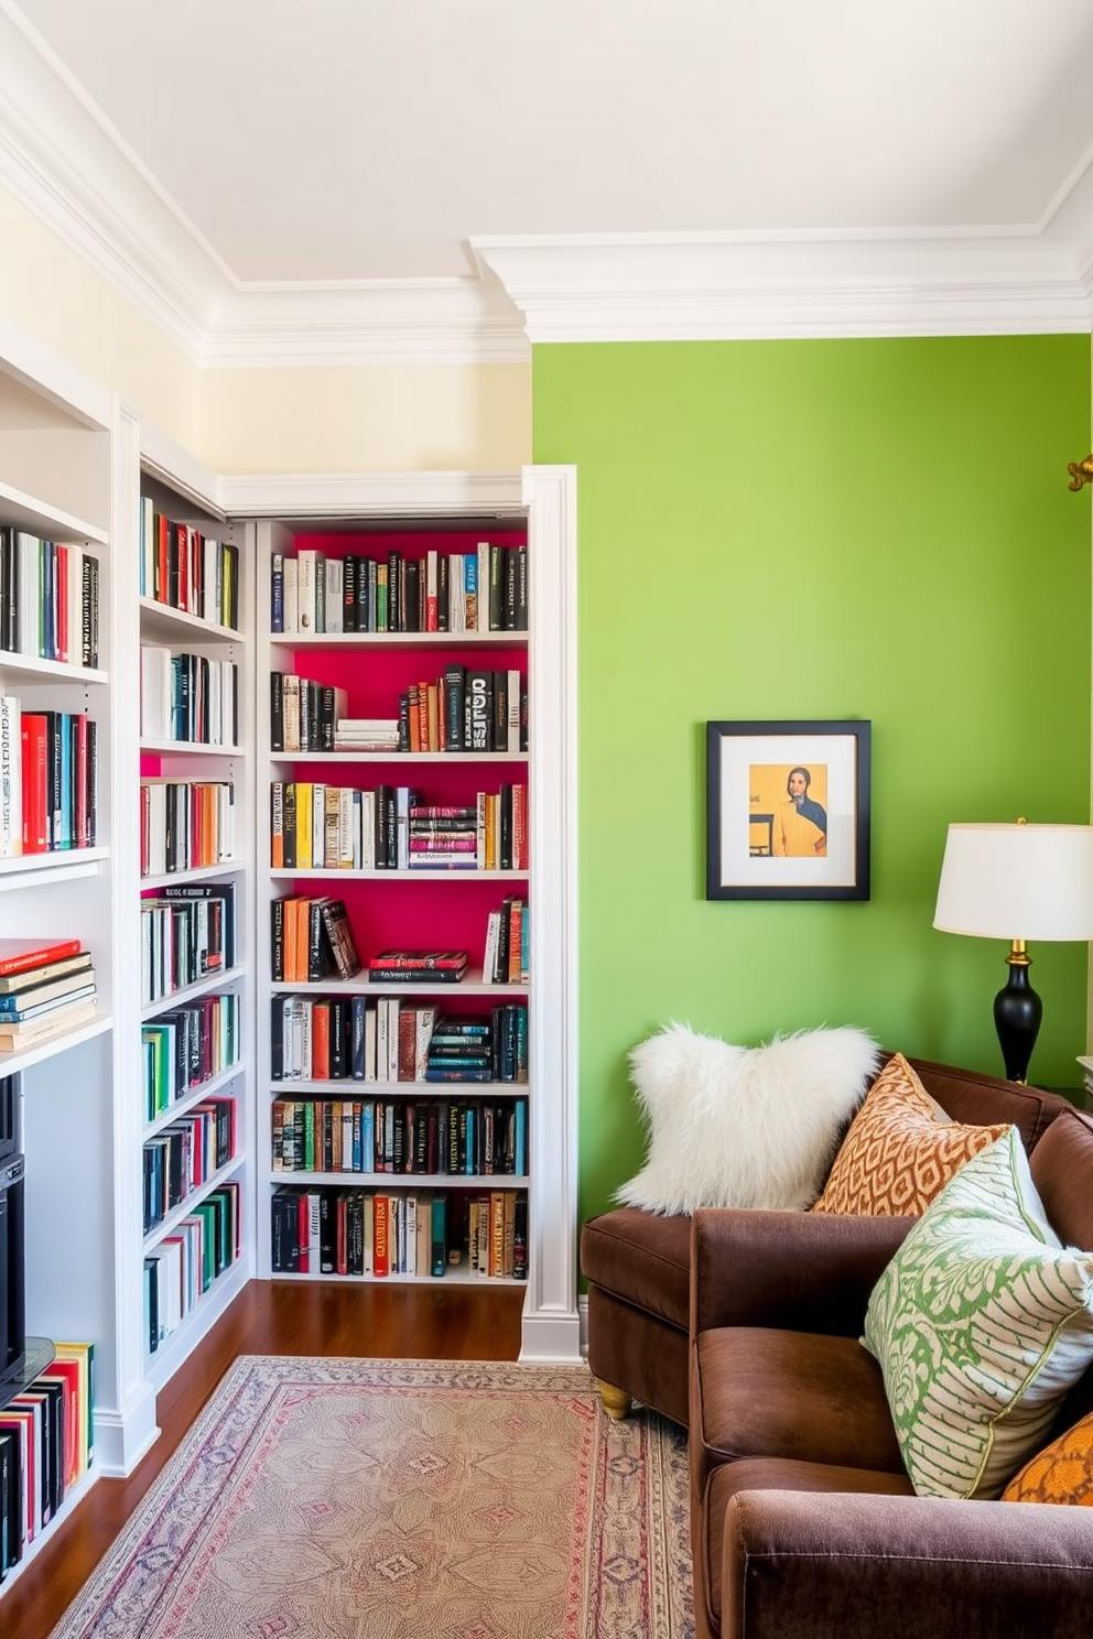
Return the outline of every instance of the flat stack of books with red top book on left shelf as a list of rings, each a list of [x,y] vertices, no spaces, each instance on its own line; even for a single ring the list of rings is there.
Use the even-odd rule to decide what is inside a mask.
[[[95,970],[79,939],[0,939],[0,1052],[95,1016]]]

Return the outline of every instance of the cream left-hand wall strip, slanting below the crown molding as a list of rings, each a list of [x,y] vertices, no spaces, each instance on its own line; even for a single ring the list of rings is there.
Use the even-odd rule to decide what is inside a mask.
[[[0,311],[197,451],[200,370],[0,188]]]

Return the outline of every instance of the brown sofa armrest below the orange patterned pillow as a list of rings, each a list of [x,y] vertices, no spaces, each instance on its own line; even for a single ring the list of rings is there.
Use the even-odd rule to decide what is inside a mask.
[[[860,1333],[914,1218],[703,1206],[692,1218],[692,1336],[714,1326]]]

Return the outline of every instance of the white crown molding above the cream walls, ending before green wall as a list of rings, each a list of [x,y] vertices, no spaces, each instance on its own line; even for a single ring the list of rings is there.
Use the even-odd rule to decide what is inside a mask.
[[[0,0],[0,187],[193,364],[526,364],[505,292],[475,277],[246,285]]]

